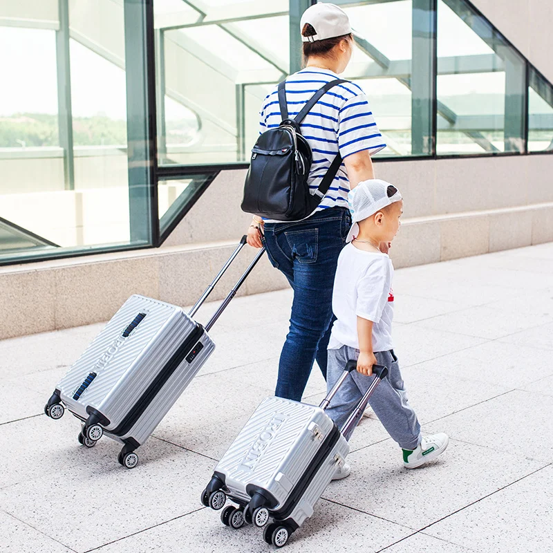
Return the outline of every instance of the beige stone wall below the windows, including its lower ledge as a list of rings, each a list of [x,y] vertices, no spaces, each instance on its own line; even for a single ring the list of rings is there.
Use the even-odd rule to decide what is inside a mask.
[[[377,162],[376,173],[405,198],[397,268],[553,241],[553,156]],[[158,250],[0,268],[0,338],[104,321],[133,293],[194,303],[250,224],[244,177],[220,174]],[[253,256],[247,247],[213,299]],[[287,286],[265,257],[240,293]]]

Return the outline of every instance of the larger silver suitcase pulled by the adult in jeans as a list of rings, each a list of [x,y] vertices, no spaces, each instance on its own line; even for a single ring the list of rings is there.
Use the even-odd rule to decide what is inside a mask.
[[[193,317],[238,252],[205,290],[191,312],[135,294],[115,313],[57,384],[44,407],[59,419],[67,408],[82,422],[78,439],[93,447],[102,435],[123,444],[118,460],[138,463],[140,447],[205,364],[215,344],[208,330],[263,255],[261,250],[205,326]]]

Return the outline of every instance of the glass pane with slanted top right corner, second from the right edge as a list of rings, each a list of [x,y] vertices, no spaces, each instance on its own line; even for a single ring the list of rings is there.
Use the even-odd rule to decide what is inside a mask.
[[[524,59],[465,1],[440,0],[438,155],[523,152],[524,89]]]

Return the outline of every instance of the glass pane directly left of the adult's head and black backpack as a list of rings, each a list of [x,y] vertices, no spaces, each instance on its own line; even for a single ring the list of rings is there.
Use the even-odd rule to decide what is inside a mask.
[[[288,0],[204,1],[187,23],[188,8],[164,19],[168,2],[153,4],[160,165],[244,161],[265,97],[252,91],[288,73]]]

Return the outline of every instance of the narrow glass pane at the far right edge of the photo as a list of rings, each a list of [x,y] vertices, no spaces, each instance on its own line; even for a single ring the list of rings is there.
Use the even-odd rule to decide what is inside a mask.
[[[534,68],[528,88],[528,151],[553,151],[553,86]]]

